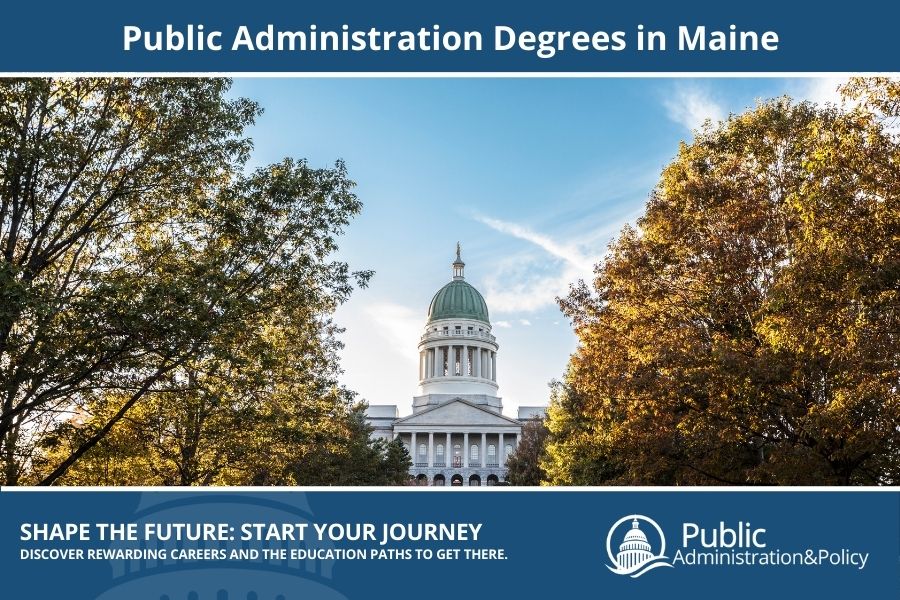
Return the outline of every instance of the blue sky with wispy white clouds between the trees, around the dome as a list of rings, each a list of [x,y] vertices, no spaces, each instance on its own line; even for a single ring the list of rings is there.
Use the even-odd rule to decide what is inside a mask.
[[[705,118],[828,79],[239,79],[265,113],[254,163],[344,159],[364,203],[339,257],[374,269],[337,313],[344,383],[408,414],[428,303],[457,241],[500,343],[507,414],[546,404],[575,336],[556,306],[633,222]]]

